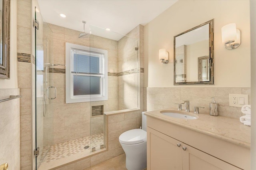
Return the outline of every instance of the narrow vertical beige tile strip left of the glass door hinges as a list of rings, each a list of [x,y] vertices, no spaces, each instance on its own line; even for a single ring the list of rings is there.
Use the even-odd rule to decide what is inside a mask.
[[[31,54],[31,1],[18,0],[18,53]],[[31,139],[31,65],[18,62],[18,87],[20,88],[20,168],[31,169],[32,139]]]

